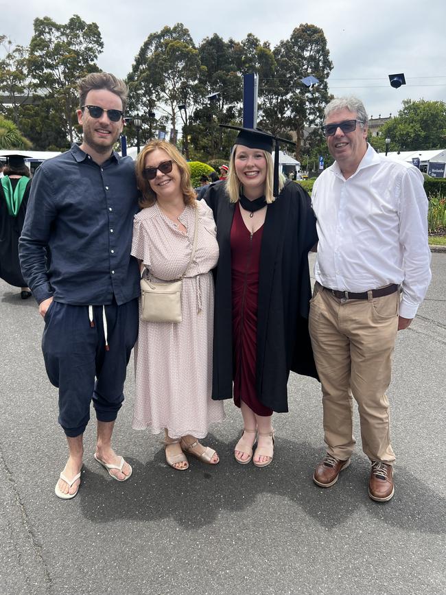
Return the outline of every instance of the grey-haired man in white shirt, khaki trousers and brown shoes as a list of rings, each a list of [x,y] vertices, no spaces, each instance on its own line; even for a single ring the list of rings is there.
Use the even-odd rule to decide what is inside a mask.
[[[330,487],[350,464],[354,397],[372,464],[368,495],[386,502],[395,492],[386,397],[392,353],[397,331],[410,325],[425,297],[430,249],[423,176],[377,154],[366,141],[367,121],[355,97],[325,108],[322,132],[336,161],[312,191],[319,242],[309,331],[327,454],[313,479]]]

